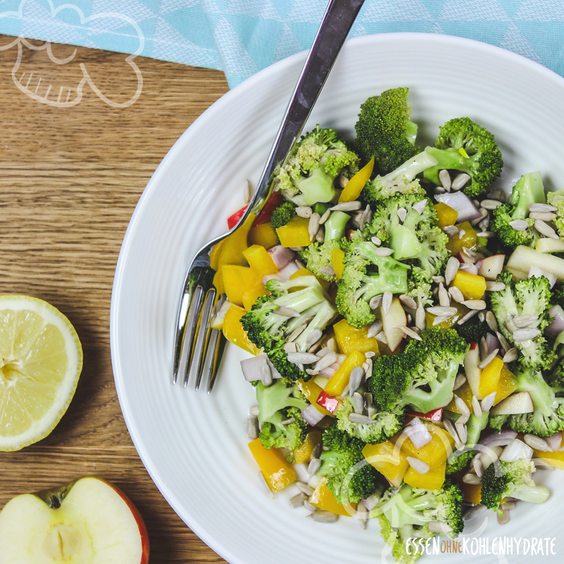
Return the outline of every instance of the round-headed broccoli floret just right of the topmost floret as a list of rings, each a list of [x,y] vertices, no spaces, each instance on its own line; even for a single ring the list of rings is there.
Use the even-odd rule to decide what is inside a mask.
[[[463,189],[470,197],[486,192],[503,168],[501,152],[494,135],[470,118],[455,118],[441,127],[434,147],[425,149],[437,164],[424,171],[424,177],[440,185],[443,169],[467,173],[470,182]]]

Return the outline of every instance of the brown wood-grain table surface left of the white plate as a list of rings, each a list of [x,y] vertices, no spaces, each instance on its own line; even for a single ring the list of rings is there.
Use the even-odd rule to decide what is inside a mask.
[[[0,36],[0,45],[11,39]],[[53,46],[59,59],[74,49]],[[24,47],[16,78],[33,73],[32,87],[40,75],[37,92],[51,84],[48,99],[56,101],[61,86],[78,83],[82,62],[109,99],[130,99],[137,78],[125,55],[76,49],[71,63],[55,65],[47,51]],[[114,386],[109,312],[135,204],[168,149],[227,92],[225,77],[137,58],[143,86],[134,104],[111,107],[86,86],[80,104],[61,108],[18,90],[16,56],[17,47],[0,51],[0,291],[60,309],[80,336],[84,369],[51,435],[19,452],[0,453],[0,508],[16,494],[94,475],[117,484],[137,505],[149,530],[152,564],[223,562],[173,512],[135,451]]]

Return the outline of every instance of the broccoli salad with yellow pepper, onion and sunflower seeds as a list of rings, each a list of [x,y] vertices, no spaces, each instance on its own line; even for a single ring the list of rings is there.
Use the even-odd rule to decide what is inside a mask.
[[[353,142],[304,135],[210,255],[269,491],[379,523],[398,562],[544,503],[534,472],[564,467],[564,190],[492,185],[501,152],[467,117],[417,146],[408,93],[367,99]]]

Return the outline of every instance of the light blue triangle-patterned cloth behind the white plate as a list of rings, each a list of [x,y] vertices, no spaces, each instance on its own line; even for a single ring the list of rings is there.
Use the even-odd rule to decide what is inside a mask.
[[[0,0],[0,33],[216,68],[231,87],[308,49],[326,0]],[[366,0],[351,35],[429,32],[564,75],[564,0]]]

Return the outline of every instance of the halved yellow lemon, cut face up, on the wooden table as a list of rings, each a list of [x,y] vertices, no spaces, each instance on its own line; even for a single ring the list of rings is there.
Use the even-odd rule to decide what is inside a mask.
[[[26,295],[0,295],[0,450],[44,439],[73,399],[82,347],[71,322]]]

